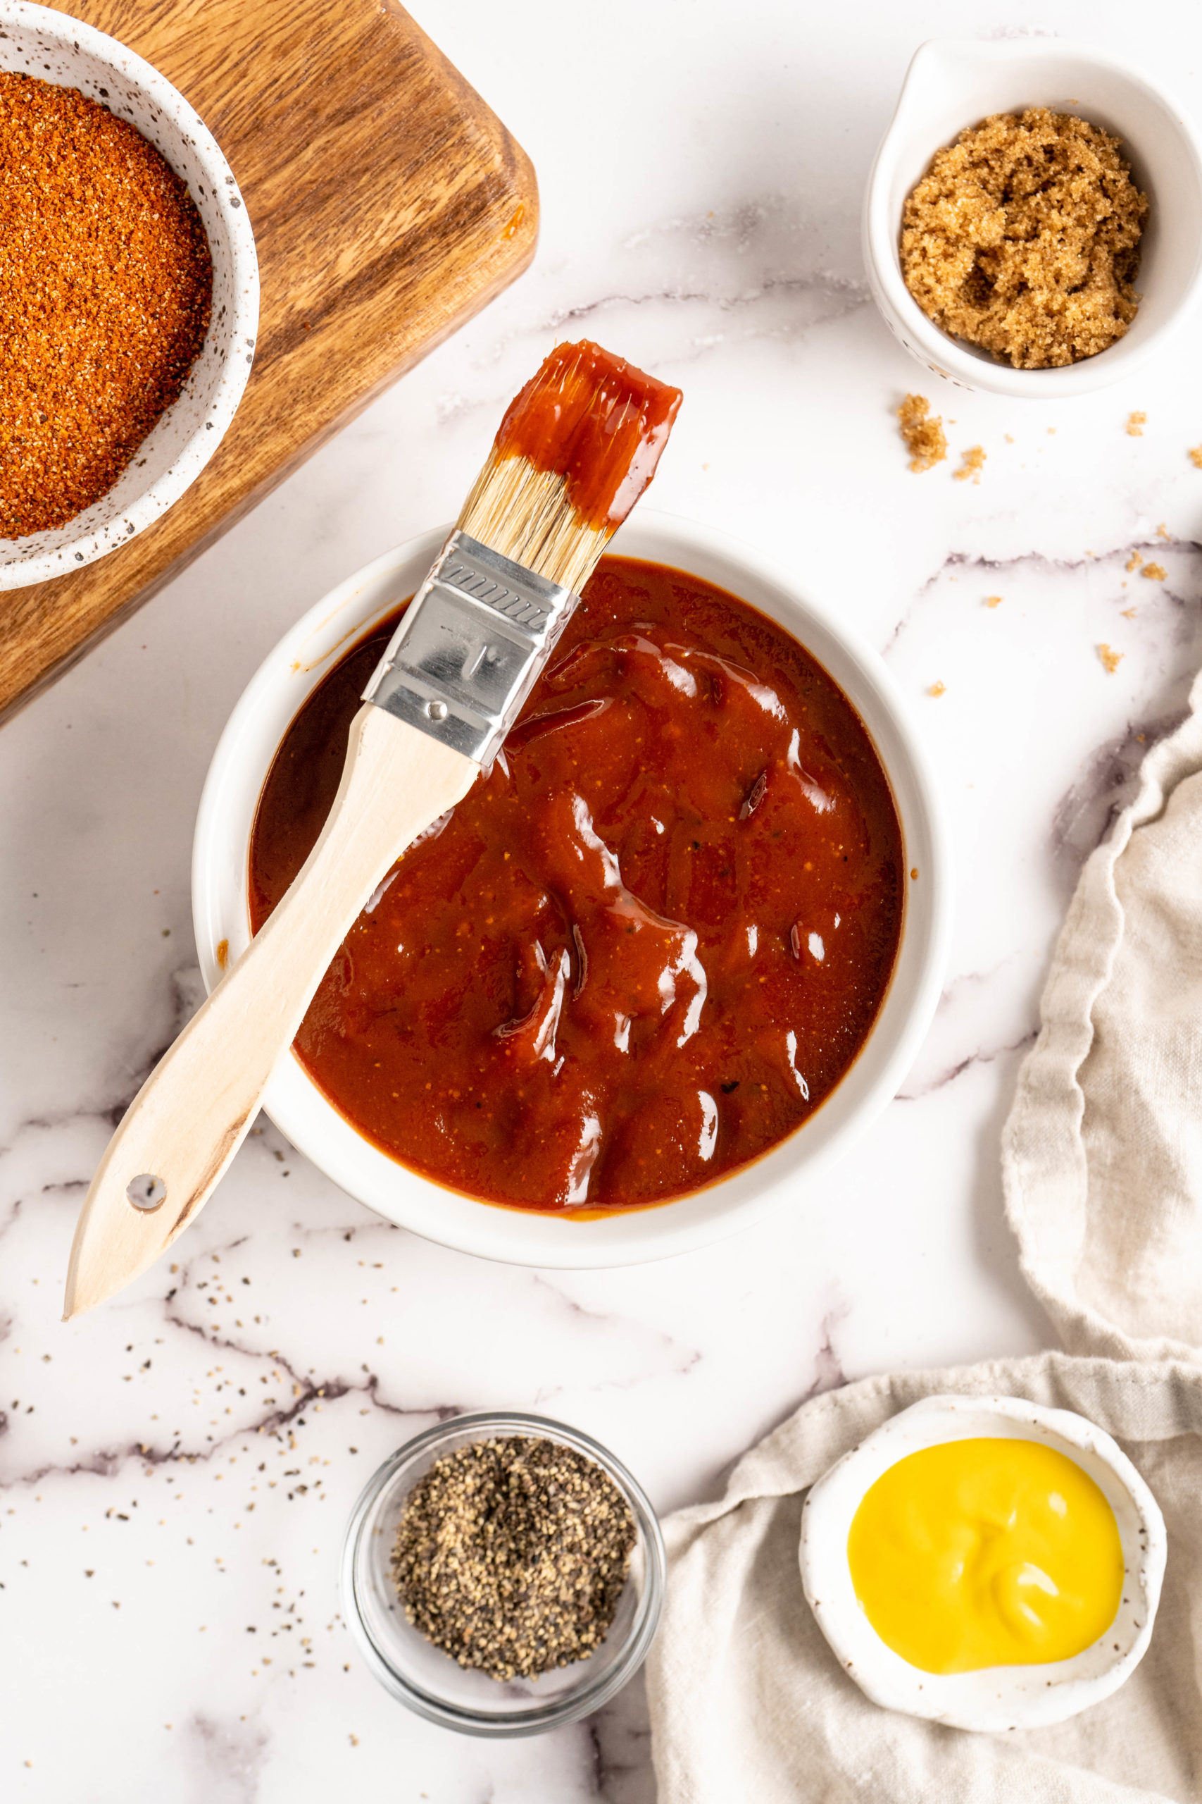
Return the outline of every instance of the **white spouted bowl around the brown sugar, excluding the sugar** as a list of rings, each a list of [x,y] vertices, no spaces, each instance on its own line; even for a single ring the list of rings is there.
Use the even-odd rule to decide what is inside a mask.
[[[1125,337],[1063,370],[1013,370],[928,319],[901,274],[901,209],[932,157],[964,126],[997,112],[1051,106],[1123,139],[1150,198],[1139,312]],[[917,361],[959,388],[1063,400],[1130,375],[1161,350],[1202,292],[1202,141],[1182,106],[1126,58],[1061,38],[933,38],[915,52],[876,153],[863,204],[863,260],[872,298]]]

